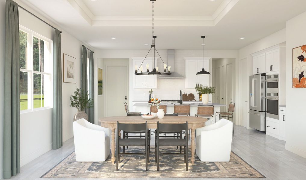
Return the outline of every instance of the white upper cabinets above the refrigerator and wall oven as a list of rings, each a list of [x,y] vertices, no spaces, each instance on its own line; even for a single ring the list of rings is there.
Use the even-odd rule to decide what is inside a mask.
[[[271,48],[252,54],[253,56],[253,74],[279,74],[280,55],[283,45],[276,45]]]

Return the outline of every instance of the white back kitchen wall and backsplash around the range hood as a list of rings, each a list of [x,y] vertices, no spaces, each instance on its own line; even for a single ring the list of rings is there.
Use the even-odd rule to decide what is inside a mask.
[[[160,56],[167,62],[167,50],[158,50]],[[96,53],[97,52],[97,53]],[[132,111],[133,100],[147,100],[149,97],[149,89],[133,89],[134,67],[132,57],[144,57],[148,50],[98,50],[96,51],[97,58],[129,58],[130,59],[130,76],[129,76],[129,108]],[[185,76],[185,57],[202,57],[202,50],[175,50],[175,72]],[[205,50],[205,57],[212,58],[237,58],[236,50]],[[152,57],[149,53],[148,57]],[[158,60],[158,66],[162,67],[161,60]],[[210,71],[212,63],[210,63]],[[210,77],[210,82],[212,78]],[[210,84],[211,85],[211,84]],[[179,92],[193,93],[196,99],[199,97],[194,89],[185,89],[185,79],[157,79],[157,89],[153,89],[153,94],[159,99],[178,99]]]

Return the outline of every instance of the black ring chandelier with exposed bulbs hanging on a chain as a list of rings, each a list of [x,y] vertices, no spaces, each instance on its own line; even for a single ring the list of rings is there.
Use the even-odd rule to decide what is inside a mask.
[[[152,1],[152,45],[151,45],[151,49],[152,49],[152,71],[149,72],[149,63],[146,64],[146,72],[143,72],[143,67],[141,66],[144,63],[144,60],[147,58],[149,52],[151,51],[151,49],[149,50],[149,52],[147,53],[147,56],[144,58],[144,60],[142,61],[142,63],[140,64],[140,67],[138,68],[137,64],[135,65],[135,74],[136,75],[170,75],[170,66],[167,67],[167,64],[164,63],[164,61],[162,60],[162,58],[160,57],[158,51],[155,48],[155,39],[157,38],[156,36],[154,36],[154,1],[156,0],[150,0]],[[159,72],[158,71],[158,67],[155,67],[155,51],[157,52],[159,58],[162,60],[162,63],[164,64],[164,72]],[[140,70],[140,72],[139,72]]]

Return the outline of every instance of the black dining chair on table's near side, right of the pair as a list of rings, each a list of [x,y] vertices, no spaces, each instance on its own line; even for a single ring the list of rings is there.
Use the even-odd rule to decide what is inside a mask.
[[[182,131],[186,130],[185,138],[182,139],[160,139],[159,132]],[[184,153],[159,153],[159,146],[184,146]],[[159,155],[184,155],[186,163],[186,171],[188,171],[188,122],[184,124],[160,124],[157,121],[157,132],[155,134],[155,163],[157,163],[157,171],[159,171]]]

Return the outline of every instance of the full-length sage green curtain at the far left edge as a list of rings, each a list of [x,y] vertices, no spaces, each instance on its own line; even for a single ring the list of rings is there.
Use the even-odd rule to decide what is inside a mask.
[[[6,0],[4,55],[3,178],[20,173],[20,65],[18,4]]]

